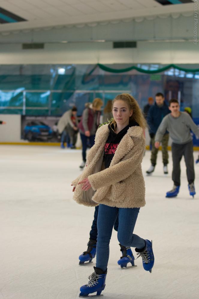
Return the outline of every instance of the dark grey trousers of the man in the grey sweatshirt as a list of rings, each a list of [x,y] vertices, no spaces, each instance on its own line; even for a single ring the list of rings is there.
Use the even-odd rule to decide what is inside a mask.
[[[193,183],[195,180],[193,142],[190,141],[185,144],[172,143],[171,151],[173,159],[172,180],[174,185],[180,186],[180,161],[182,156],[185,159],[187,180],[189,184]]]

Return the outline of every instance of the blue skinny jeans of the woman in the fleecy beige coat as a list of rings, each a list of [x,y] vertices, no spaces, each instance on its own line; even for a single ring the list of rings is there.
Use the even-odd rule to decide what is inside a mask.
[[[123,246],[144,248],[145,241],[136,234],[133,234],[135,222],[140,208],[116,208],[99,204],[97,218],[97,253],[96,267],[106,271],[109,258],[109,243],[118,216],[117,239]]]

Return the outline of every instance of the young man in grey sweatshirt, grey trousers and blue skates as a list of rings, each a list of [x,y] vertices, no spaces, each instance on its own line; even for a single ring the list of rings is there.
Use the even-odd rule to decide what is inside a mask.
[[[180,189],[180,161],[182,156],[185,158],[187,180],[189,182],[189,193],[194,197],[195,195],[195,172],[194,172],[194,158],[193,158],[193,142],[190,130],[199,137],[199,128],[193,122],[192,118],[186,112],[180,112],[180,106],[176,99],[169,101],[169,110],[171,113],[162,119],[161,124],[156,132],[155,147],[159,148],[162,137],[166,130],[169,131],[170,137],[173,141],[171,145],[173,171],[172,180],[174,187],[168,191],[166,197],[177,196]]]

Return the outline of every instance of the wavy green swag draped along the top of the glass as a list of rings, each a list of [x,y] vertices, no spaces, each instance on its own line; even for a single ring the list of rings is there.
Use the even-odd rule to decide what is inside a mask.
[[[110,73],[124,73],[124,72],[128,72],[131,70],[137,70],[140,73],[145,73],[145,74],[156,74],[156,73],[161,73],[164,72],[166,70],[168,70],[169,68],[176,68],[179,71],[185,71],[186,73],[195,73],[195,72],[199,72],[199,68],[181,68],[175,64],[170,64],[165,66],[164,68],[159,68],[157,70],[153,70],[153,71],[148,71],[148,70],[144,70],[143,68],[138,68],[137,66],[130,66],[129,68],[109,68],[108,66],[105,66],[103,64],[98,63],[97,66],[99,66],[99,68],[101,68],[102,70],[106,71],[106,72],[110,72]],[[94,71],[94,69],[92,70]],[[91,73],[91,72],[90,72]]]

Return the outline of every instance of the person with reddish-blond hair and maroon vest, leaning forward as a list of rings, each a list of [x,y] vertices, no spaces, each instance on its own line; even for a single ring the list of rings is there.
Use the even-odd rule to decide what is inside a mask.
[[[91,147],[95,142],[95,134],[99,127],[99,119],[101,115],[101,107],[103,102],[100,98],[95,98],[92,103],[92,107],[87,107],[82,114],[82,119],[78,125],[80,137],[82,140],[82,164],[80,168],[84,168],[86,165],[86,149],[89,139]]]

